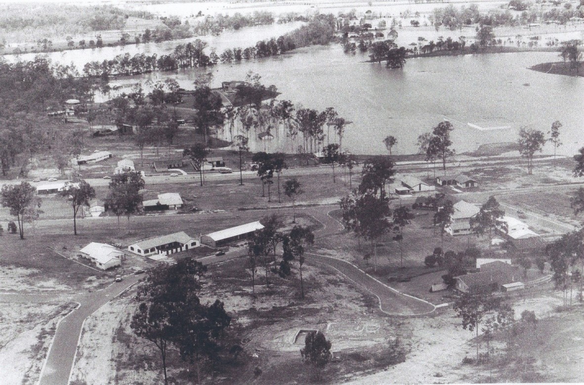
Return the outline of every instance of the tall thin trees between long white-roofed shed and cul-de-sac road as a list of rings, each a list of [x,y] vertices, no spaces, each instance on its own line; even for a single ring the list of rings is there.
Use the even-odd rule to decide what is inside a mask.
[[[300,278],[300,294],[304,298],[304,280],[302,268],[304,254],[308,245],[314,243],[314,234],[309,227],[294,226],[287,233],[280,231],[283,227],[281,220],[276,215],[262,219],[264,228],[253,234],[248,243],[248,266],[252,275],[252,292],[255,293],[256,272],[260,265],[265,270],[265,284],[269,287],[270,273],[287,279],[292,275],[293,262],[298,262],[298,275]],[[281,244],[281,260],[277,261],[277,247]]]

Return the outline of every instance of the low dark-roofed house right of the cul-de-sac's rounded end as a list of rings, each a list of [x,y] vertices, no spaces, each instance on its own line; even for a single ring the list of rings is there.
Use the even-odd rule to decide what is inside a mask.
[[[519,282],[521,270],[502,261],[484,263],[478,273],[454,277],[454,288],[463,293],[491,293]]]

